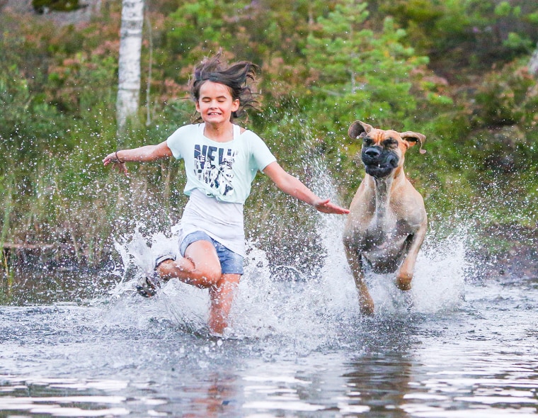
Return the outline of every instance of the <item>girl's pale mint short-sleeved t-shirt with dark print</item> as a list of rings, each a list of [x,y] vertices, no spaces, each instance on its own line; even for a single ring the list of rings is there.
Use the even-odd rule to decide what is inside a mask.
[[[204,127],[182,126],[166,140],[173,156],[185,161],[185,194],[198,189],[222,202],[244,204],[256,172],[275,162],[275,156],[261,137],[250,130],[241,133],[239,125],[229,142],[210,140]]]

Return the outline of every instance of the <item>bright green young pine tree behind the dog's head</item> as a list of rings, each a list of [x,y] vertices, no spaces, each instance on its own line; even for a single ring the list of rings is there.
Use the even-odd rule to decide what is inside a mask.
[[[329,124],[345,118],[375,120],[399,128],[416,109],[410,94],[413,70],[428,62],[402,42],[405,31],[386,18],[381,33],[366,28],[367,4],[343,0],[317,19],[305,55],[311,94],[332,114]]]

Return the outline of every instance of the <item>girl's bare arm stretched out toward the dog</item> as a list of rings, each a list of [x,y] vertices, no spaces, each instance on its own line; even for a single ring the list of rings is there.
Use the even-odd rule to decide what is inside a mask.
[[[304,183],[302,183],[302,181],[287,173],[287,171],[282,169],[277,162],[272,162],[266,166],[265,169],[263,169],[263,172],[267,174],[284,193],[314,206],[314,208],[320,212],[336,213],[338,215],[349,213],[348,209],[340,208],[340,206],[332,203],[330,199],[322,199],[319,196],[316,196],[304,185]]]

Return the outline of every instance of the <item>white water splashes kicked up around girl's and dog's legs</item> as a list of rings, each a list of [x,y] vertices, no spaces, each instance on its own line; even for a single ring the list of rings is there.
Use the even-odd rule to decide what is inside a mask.
[[[338,202],[336,187],[330,176],[322,164],[318,162],[317,166],[321,168],[314,176],[316,184],[311,187],[320,196]],[[312,272],[310,276],[300,273],[301,266],[270,269],[268,257],[258,243],[247,242],[245,274],[231,310],[232,325],[227,337],[277,339],[290,342],[287,346],[294,350],[309,351],[338,339],[337,334],[342,327],[349,324],[360,326],[362,316],[357,293],[342,245],[344,223],[343,216],[319,214],[316,228],[326,251],[321,270]],[[128,288],[132,290],[137,278],[153,269],[156,255],[177,249],[178,227],[173,228],[170,235],[158,233],[151,237],[144,237],[139,232],[141,229],[116,245],[125,271],[117,294]],[[368,275],[367,283],[376,304],[376,315],[457,309],[462,303],[465,274],[469,267],[465,258],[466,245],[467,232],[464,230],[455,230],[442,239],[428,237],[418,257],[410,293],[396,288],[394,274]],[[132,278],[127,277],[129,271],[135,271]],[[413,300],[412,307],[409,295]],[[178,329],[207,334],[207,290],[172,280],[154,300],[138,300],[134,308],[137,313],[142,305],[153,306],[152,315],[166,315]]]

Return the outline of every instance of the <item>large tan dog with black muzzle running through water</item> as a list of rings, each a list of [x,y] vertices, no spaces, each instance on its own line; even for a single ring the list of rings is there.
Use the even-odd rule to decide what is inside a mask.
[[[355,121],[348,130],[362,139],[365,178],[351,202],[343,242],[359,293],[360,310],[374,312],[365,283],[365,266],[374,273],[396,272],[396,286],[411,289],[413,270],[424,241],[428,218],[424,201],[404,174],[404,155],[426,137],[417,132],[381,130]]]

